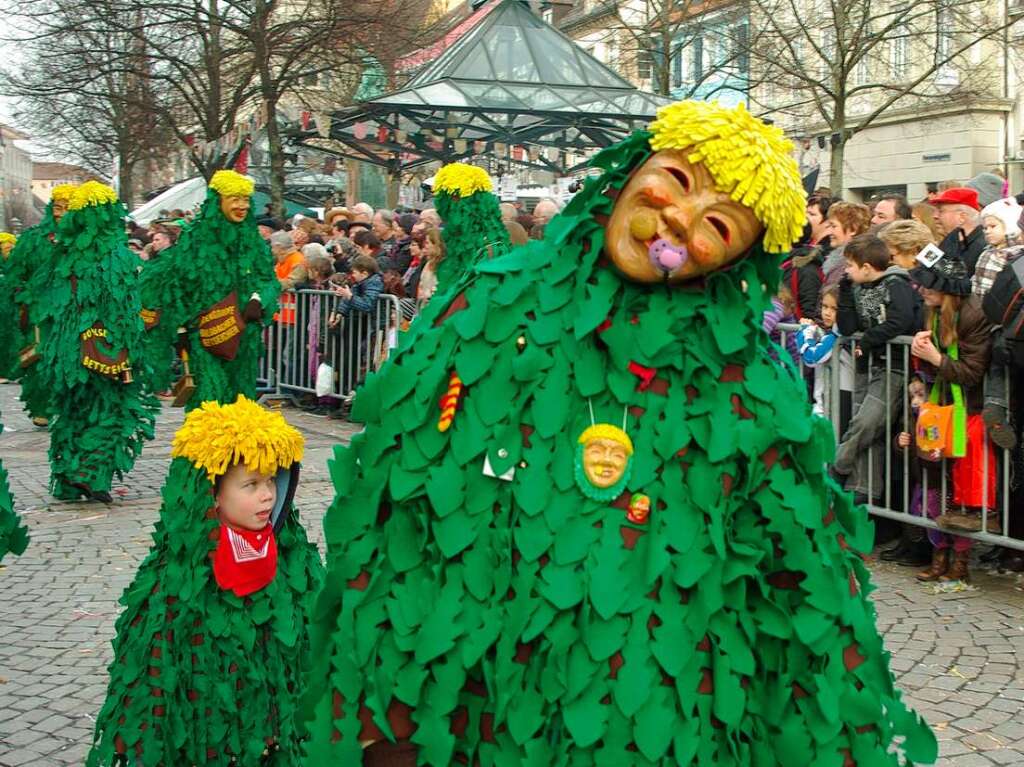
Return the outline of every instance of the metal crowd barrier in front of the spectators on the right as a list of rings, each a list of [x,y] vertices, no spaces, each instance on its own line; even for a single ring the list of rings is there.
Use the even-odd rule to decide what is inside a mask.
[[[779,349],[775,351],[780,357],[782,355],[788,355],[788,350],[786,349],[786,341],[791,334],[796,334],[801,326],[794,324],[779,324],[777,326],[780,331],[780,343]],[[833,429],[836,433],[837,444],[840,443],[843,437],[843,432],[848,425],[849,418],[852,418],[856,414],[856,404],[851,408],[849,414],[844,413],[844,400],[847,397],[842,395],[841,383],[844,383],[841,379],[849,378],[848,383],[850,383],[849,388],[849,400],[853,403],[857,402],[858,394],[858,376],[855,373],[856,370],[856,358],[854,357],[854,349],[857,347],[859,342],[860,334],[852,337],[841,337],[834,347],[833,354],[829,359],[822,366],[814,367],[808,369],[804,365],[799,353],[797,354],[794,363],[796,364],[797,370],[799,371],[800,377],[805,381],[809,380],[809,371],[813,372],[812,375],[818,375],[819,371],[827,370],[828,375],[826,380],[829,383],[829,391],[827,396],[825,396],[825,410],[820,415],[831,423]],[[934,519],[929,518],[924,512],[921,516],[910,513],[910,498],[913,492],[912,482],[910,477],[910,462],[915,460],[915,444],[913,439],[913,415],[910,410],[910,401],[907,392],[907,384],[912,377],[911,369],[911,355],[910,355],[910,343],[913,338],[910,336],[899,336],[893,339],[888,345],[885,353],[885,385],[886,385],[886,396],[885,400],[887,402],[893,401],[893,391],[892,386],[901,386],[902,392],[899,392],[899,408],[897,412],[894,413],[891,408],[887,408],[886,411],[886,423],[885,430],[881,439],[876,440],[867,449],[867,509],[871,514],[880,517],[888,517],[890,519],[896,519],[900,522],[906,522],[908,524],[915,524],[922,527],[929,527],[939,532],[961,536],[963,538],[970,538],[975,541],[980,541],[987,544],[995,544],[998,546],[1005,546],[1011,549],[1024,550],[1024,540],[1019,538],[1013,538],[1010,536],[1010,514],[1011,514],[1011,504],[1010,504],[1010,477],[1011,477],[1011,452],[1001,450],[1000,448],[994,445],[988,437],[987,428],[985,430],[985,440],[987,442],[986,449],[984,451],[985,459],[982,461],[982,506],[981,506],[981,530],[978,532],[970,532],[962,529],[953,529],[950,527],[945,527],[939,525]],[[844,375],[844,369],[849,369],[852,375],[849,377]],[[893,372],[894,369],[898,375],[895,379]],[[899,371],[905,371],[906,373],[900,374]],[[867,363],[867,374],[863,377],[863,382],[870,380],[872,370],[872,363],[870,357],[868,357]],[[1004,377],[1006,382],[1006,401],[1010,402],[1010,381],[1011,372],[1006,371]],[[931,391],[931,385],[928,384],[926,391]],[[901,432],[906,431],[910,433],[910,445],[907,448],[896,446],[896,436]],[[989,461],[988,457],[990,455],[989,450],[991,450],[991,455],[994,455],[995,461],[992,470],[996,473],[995,482],[995,497],[988,497],[988,486],[989,486]],[[898,459],[898,460],[897,460]],[[958,511],[964,513],[969,507],[964,505],[954,505],[951,501],[952,495],[952,478],[950,469],[955,459],[941,459],[940,462],[936,462],[938,467],[937,471],[940,475],[940,485],[939,485],[939,513],[937,517],[945,516],[950,510]],[[881,463],[881,474],[882,474],[882,486],[879,487],[874,484],[876,469],[879,468],[876,462]],[[895,474],[895,476],[894,476]],[[928,474],[929,472],[924,470],[921,471],[922,476],[922,493],[924,498],[928,498]],[[973,507],[976,509],[977,507]],[[1024,513],[1024,509],[1018,509],[1017,513]],[[986,530],[997,528],[996,532],[989,532]]]

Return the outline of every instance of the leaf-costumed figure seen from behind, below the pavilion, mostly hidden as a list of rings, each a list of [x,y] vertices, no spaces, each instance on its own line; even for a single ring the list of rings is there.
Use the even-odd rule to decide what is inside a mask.
[[[434,201],[444,221],[444,259],[437,265],[440,295],[477,261],[507,253],[511,246],[490,176],[482,168],[445,165],[434,176]]]

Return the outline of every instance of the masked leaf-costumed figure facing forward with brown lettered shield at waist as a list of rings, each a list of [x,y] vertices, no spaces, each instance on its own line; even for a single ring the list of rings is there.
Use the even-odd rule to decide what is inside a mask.
[[[170,384],[169,350],[177,344],[196,383],[188,410],[208,400],[233,402],[239,394],[256,396],[263,328],[273,321],[281,286],[250,210],[252,194],[249,178],[229,170],[214,173],[196,221],[142,271],[153,386]]]

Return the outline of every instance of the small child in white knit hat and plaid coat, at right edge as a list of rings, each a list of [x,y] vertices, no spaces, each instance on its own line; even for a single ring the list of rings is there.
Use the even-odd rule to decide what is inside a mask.
[[[988,293],[1007,262],[1024,253],[1021,214],[1024,208],[1012,197],[996,200],[981,211],[987,246],[978,256],[978,265],[971,279],[971,292],[979,299]],[[981,415],[992,441],[1004,450],[1013,450],[1017,437],[1007,420],[1006,389],[1005,369],[995,360],[985,378],[985,407]]]

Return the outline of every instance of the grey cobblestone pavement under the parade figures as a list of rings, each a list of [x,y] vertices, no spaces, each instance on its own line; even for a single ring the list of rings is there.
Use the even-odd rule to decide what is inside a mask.
[[[32,534],[0,567],[0,766],[80,765],[105,691],[117,600],[148,549],[171,435],[165,408],[113,504],[62,503],[46,491],[47,434],[0,386],[0,457]],[[286,414],[306,435],[298,506],[323,549],[327,459],[351,425]],[[906,568],[872,563],[879,628],[906,697],[932,724],[943,767],[1024,765],[1024,587],[984,572],[974,591],[935,594]],[[796,765],[794,767],[797,767]]]

